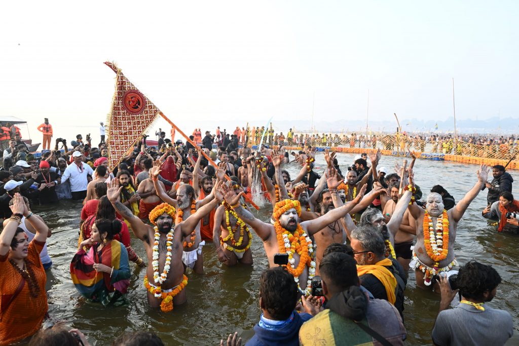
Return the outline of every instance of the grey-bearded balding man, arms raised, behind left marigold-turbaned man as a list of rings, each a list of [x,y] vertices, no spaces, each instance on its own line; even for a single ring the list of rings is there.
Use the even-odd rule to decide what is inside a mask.
[[[152,177],[153,185],[157,191],[158,197],[160,197],[162,201],[173,205],[177,210],[175,224],[179,224],[183,220],[187,220],[189,216],[194,214],[201,206],[206,205],[214,198],[213,189],[213,191],[208,196],[206,196],[206,198],[197,201],[193,187],[189,184],[181,184],[180,187],[176,190],[176,200],[174,200],[168,196],[163,188],[163,185],[159,184],[159,174],[160,162],[157,160],[155,161],[153,168],[149,170],[149,175]],[[209,212],[210,210],[208,210],[203,215],[206,215]],[[184,239],[184,253],[182,255],[182,262],[184,265],[193,269],[197,274],[203,273],[202,246],[205,244],[206,242],[202,241],[201,239],[200,223],[197,223],[196,227],[193,228],[192,233]]]

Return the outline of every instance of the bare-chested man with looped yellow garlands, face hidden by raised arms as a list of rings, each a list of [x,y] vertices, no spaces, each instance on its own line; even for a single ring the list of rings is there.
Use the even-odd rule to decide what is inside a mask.
[[[236,182],[230,183],[233,184],[236,194],[242,191]],[[239,203],[247,209],[245,200],[241,196]],[[227,224],[227,220],[229,224]],[[227,266],[235,266],[238,262],[251,265],[251,241],[252,234],[249,226],[244,224],[231,206],[224,201],[214,215],[213,243],[218,260]]]

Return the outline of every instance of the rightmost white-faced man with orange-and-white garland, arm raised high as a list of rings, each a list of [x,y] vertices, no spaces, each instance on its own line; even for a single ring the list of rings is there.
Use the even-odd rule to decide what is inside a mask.
[[[409,205],[409,212],[417,220],[416,245],[409,267],[415,269],[416,284],[419,287],[439,289],[438,281],[432,285],[434,276],[457,266],[454,241],[458,222],[486,183],[488,171],[489,168],[482,164],[477,171],[474,187],[448,211],[444,209],[442,196],[435,192],[427,196],[426,210],[421,209],[416,203]]]

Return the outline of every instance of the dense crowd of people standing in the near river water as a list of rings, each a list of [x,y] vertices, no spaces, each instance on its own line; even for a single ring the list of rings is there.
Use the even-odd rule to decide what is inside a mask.
[[[35,333],[34,345],[88,344],[79,330],[62,324],[39,330],[49,317],[52,248],[46,239],[52,230],[31,206],[62,199],[84,204],[71,281],[102,306],[127,302],[133,262],[145,270],[148,305],[170,312],[188,299],[189,276],[203,273],[202,246],[213,246],[223,266],[252,265],[251,242],[258,237],[269,269],[260,279],[262,315],[248,345],[404,344],[409,272],[418,287],[441,293],[435,344],[503,344],[512,336],[510,313],[486,304],[501,282],[498,272],[475,261],[453,270],[459,267],[458,222],[483,189],[489,203],[483,216],[499,220],[499,231],[519,227],[510,216],[519,202],[504,167],[494,166],[488,182],[489,168],[482,165],[458,203],[441,185],[422,201],[414,152],[408,166],[392,173],[380,165],[380,151],[359,156],[344,171],[336,153],[325,151],[326,169],[315,172],[315,147],[294,153],[290,163],[285,144],[298,140],[292,130],[286,142],[271,126],[237,127],[233,134],[218,128],[204,137],[197,129],[185,145],[171,134],[173,141],[160,130],[156,147],[143,136],[113,170],[104,138],[93,147],[90,136],[83,142],[78,134],[70,150],[56,139],[39,160],[9,144],[0,170],[0,344]],[[255,152],[250,139],[261,144]],[[297,176],[283,169],[289,164],[301,167]],[[258,197],[272,207],[269,223],[251,213],[260,208]],[[132,236],[142,241],[144,258],[131,247]],[[458,292],[459,305],[449,309]],[[138,333],[114,344],[161,341]],[[235,333],[221,344],[241,339]]]

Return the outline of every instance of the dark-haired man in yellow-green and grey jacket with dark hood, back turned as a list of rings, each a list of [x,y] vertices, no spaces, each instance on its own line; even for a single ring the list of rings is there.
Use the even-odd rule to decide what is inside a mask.
[[[351,256],[326,255],[319,271],[326,309],[299,329],[301,345],[372,344],[384,339],[392,345],[404,344],[406,331],[397,309],[362,292]]]

